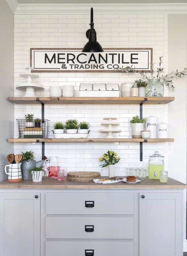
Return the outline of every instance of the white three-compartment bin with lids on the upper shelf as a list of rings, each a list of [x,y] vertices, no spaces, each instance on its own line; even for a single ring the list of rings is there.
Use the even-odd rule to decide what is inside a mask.
[[[81,83],[80,97],[119,97],[118,83]]]

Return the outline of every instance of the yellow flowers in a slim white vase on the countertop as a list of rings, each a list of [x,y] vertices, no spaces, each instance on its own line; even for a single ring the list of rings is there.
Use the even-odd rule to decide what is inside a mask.
[[[114,151],[107,151],[102,157],[99,157],[99,162],[105,162],[100,166],[108,166],[108,177],[114,177],[114,165],[117,164],[120,160],[120,157]]]

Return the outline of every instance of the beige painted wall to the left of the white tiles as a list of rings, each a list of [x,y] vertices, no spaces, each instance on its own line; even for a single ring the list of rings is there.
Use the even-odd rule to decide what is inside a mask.
[[[6,156],[14,153],[13,143],[7,138],[13,136],[14,105],[7,101],[14,95],[14,15],[5,0],[0,7],[0,181],[7,178],[4,166]]]

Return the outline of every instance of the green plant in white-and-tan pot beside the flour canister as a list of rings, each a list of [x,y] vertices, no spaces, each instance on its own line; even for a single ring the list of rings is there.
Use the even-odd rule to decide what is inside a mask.
[[[145,118],[139,119],[139,116],[133,116],[133,119],[130,120],[132,124],[132,137],[141,138],[141,131],[144,130]]]

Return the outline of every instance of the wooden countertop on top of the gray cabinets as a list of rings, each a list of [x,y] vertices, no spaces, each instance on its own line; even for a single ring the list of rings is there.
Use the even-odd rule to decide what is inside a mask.
[[[111,184],[96,184],[94,182],[74,182],[69,180],[59,181],[57,179],[43,178],[41,182],[23,180],[11,183],[7,180],[0,182],[0,189],[22,188],[22,189],[186,189],[187,185],[177,180],[168,178],[168,183],[160,183],[159,180],[141,180],[136,184],[117,182]]]

